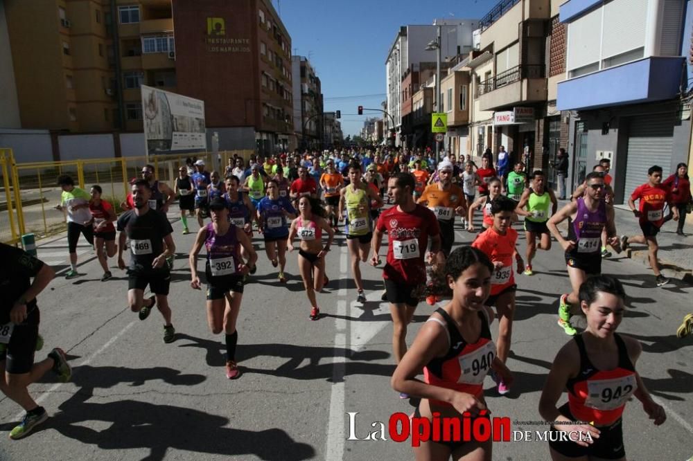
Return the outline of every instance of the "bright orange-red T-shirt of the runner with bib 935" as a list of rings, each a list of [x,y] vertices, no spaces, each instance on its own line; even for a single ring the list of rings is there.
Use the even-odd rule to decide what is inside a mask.
[[[491,295],[495,295],[515,284],[513,254],[518,240],[517,230],[508,228],[505,235],[500,235],[493,227],[479,234],[473,242],[474,248],[486,253],[491,262],[502,262],[500,269],[493,269],[491,274]]]

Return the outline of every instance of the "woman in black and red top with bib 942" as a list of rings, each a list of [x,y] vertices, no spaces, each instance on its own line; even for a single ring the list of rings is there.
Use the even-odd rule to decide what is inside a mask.
[[[642,402],[655,426],[667,415],[635,371],[642,346],[616,333],[625,311],[621,282],[611,275],[589,278],[581,284],[579,298],[587,328],[556,354],[539,400],[541,417],[565,423],[551,426],[551,431],[570,439],[550,437],[556,442],[549,443],[549,452],[554,461],[625,460],[621,415],[631,395]],[[568,402],[556,408],[563,389],[568,390]]]

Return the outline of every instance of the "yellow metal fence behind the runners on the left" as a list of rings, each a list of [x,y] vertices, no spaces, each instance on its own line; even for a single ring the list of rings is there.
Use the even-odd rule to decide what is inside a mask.
[[[229,158],[241,156],[247,164],[252,150],[222,151],[220,175],[223,176]],[[187,158],[203,160],[211,171],[211,152],[165,154],[150,156],[155,177],[173,188],[178,167]],[[65,230],[64,213],[53,207],[60,202],[61,190],[58,177],[69,174],[79,188],[89,190],[98,184],[103,189],[103,199],[119,204],[130,192],[129,181],[141,177],[141,169],[147,159],[121,157],[60,162],[15,163],[11,149],[0,149],[0,242],[17,244],[21,235],[33,233],[36,239],[62,233]]]

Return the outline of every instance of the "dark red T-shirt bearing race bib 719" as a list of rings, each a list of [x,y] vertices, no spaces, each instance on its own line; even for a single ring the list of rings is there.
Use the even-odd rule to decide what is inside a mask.
[[[384,211],[376,228],[387,230],[387,264],[383,278],[401,284],[426,282],[426,264],[423,257],[428,237],[439,235],[440,226],[431,210],[416,205],[411,213],[404,213],[393,206]]]

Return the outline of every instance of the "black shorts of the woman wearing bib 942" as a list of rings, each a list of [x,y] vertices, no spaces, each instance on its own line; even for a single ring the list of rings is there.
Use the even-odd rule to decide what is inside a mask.
[[[570,414],[568,404],[564,404],[559,408],[561,415],[567,417],[571,421],[575,418]],[[623,446],[623,424],[622,419],[611,424],[611,426],[599,427],[599,438],[595,438],[594,443],[590,446],[579,446],[575,442],[569,440],[561,441],[557,434],[549,437],[549,446],[561,455],[567,458],[602,458],[604,460],[620,460],[626,458],[626,450]],[[552,433],[559,433],[554,426],[551,426]],[[574,437],[574,436],[573,436]],[[556,440],[556,442],[553,442]]]

